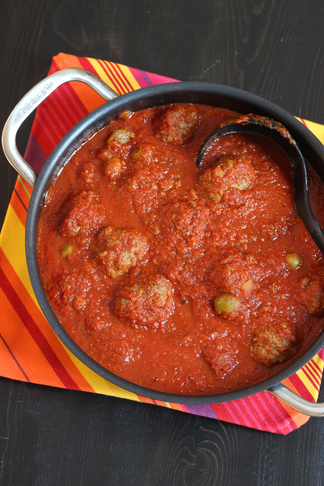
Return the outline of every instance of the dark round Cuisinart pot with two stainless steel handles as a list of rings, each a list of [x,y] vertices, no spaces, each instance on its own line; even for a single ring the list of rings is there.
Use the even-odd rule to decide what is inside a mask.
[[[43,99],[61,84],[72,80],[88,84],[107,103],[92,113],[89,113],[63,137],[47,159],[39,176],[37,176],[35,171],[26,163],[17,150],[15,141],[17,130],[26,116]],[[29,276],[38,303],[59,339],[80,361],[101,377],[133,393],[173,403],[204,404],[236,400],[260,391],[268,391],[305,415],[324,416],[324,403],[309,402],[280,383],[302,368],[324,346],[324,329],[309,348],[293,363],[276,375],[260,383],[237,391],[216,395],[176,395],[144,388],[120,378],[103,368],[74,343],[60,325],[51,309],[44,293],[41,279],[39,278],[36,258],[38,219],[49,186],[60,173],[75,149],[94,131],[106,125],[109,120],[115,118],[121,111],[135,111],[150,106],[174,102],[205,103],[222,106],[238,111],[239,113],[247,114],[252,112],[280,121],[295,138],[304,157],[310,161],[316,172],[324,180],[324,146],[294,116],[270,101],[252,93],[211,83],[185,82],[150,86],[127,93],[123,96],[118,96],[117,93],[89,71],[69,68],[56,72],[38,83],[18,103],[7,120],[2,138],[4,152],[9,162],[26,182],[33,187],[26,220],[25,247]]]

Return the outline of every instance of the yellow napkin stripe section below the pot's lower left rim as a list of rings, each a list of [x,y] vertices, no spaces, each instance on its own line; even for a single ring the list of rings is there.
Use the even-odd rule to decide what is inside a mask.
[[[74,354],[72,354],[66,346],[62,343],[65,351],[69,355],[70,359],[73,361],[76,368],[87,380],[87,382],[92,386],[96,393],[101,393],[102,395],[112,395],[119,398],[128,398],[129,400],[140,401],[135,393],[119,388],[119,386],[110,383],[101,376],[97,375],[94,371],[90,370],[84,363],[77,359]]]

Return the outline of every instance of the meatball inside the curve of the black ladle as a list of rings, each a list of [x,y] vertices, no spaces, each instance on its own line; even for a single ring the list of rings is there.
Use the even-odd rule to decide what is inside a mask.
[[[240,191],[248,189],[255,180],[255,171],[245,157],[222,157],[219,164],[207,169],[201,176],[201,184],[208,196],[219,200],[230,187]]]

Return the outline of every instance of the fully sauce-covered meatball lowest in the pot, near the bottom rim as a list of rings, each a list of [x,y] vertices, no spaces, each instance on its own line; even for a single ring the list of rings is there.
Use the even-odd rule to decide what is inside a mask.
[[[214,339],[203,350],[206,361],[219,378],[223,378],[238,363],[238,347],[228,337]]]

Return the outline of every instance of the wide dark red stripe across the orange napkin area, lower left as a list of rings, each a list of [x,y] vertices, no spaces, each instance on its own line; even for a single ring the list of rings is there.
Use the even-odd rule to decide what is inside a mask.
[[[46,337],[42,333],[42,331],[38,328],[36,322],[33,320],[31,315],[29,314],[28,310],[19,299],[15,289],[12,287],[10,281],[8,280],[6,274],[0,268],[0,286],[4,291],[7,299],[17,312],[19,318],[25,325],[27,331],[37,344],[38,348],[42,351],[45,358],[48,360],[49,365],[56,373],[58,378],[61,380],[65,388],[70,388],[72,390],[80,390],[77,386],[75,381],[71,378],[71,376],[67,373],[65,368],[63,367],[61,361],[55,354],[53,348],[51,347],[50,343],[47,341]]]

